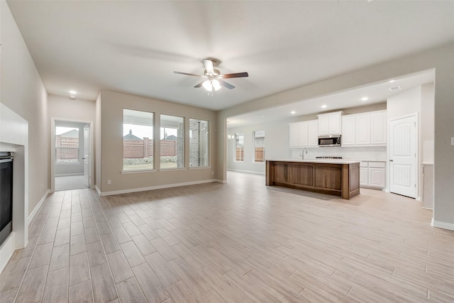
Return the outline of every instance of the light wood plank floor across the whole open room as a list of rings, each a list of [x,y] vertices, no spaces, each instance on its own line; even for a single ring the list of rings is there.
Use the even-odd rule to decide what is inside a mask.
[[[0,302],[454,302],[454,232],[420,202],[264,184],[55,192]]]

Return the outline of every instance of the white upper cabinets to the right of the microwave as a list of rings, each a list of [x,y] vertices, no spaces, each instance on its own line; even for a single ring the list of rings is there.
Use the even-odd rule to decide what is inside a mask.
[[[386,145],[386,111],[371,111],[342,117],[342,145]]]

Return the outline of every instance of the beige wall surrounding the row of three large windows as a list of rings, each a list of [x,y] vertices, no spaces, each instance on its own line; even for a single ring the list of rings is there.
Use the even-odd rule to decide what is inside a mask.
[[[97,187],[101,189],[101,192],[111,193],[132,189],[166,187],[188,182],[209,182],[214,179],[214,172],[216,171],[216,113],[214,111],[107,91],[101,92],[99,106],[101,109],[101,153],[99,154],[99,158],[101,158],[101,180],[98,179]],[[123,108],[154,112],[155,138],[159,138],[160,114],[184,117],[186,119],[185,138],[187,138],[184,142],[186,167],[189,163],[189,118],[208,120],[210,122],[210,167],[159,170],[159,149],[155,145],[155,168],[157,170],[122,173]],[[98,104],[96,104],[96,110],[99,110]],[[97,172],[96,176],[98,176]],[[111,180],[111,184],[107,184],[107,180]]]

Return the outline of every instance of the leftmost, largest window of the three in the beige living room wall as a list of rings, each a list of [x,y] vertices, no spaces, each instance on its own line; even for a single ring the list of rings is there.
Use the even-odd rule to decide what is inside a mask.
[[[123,170],[153,169],[153,113],[123,109]]]

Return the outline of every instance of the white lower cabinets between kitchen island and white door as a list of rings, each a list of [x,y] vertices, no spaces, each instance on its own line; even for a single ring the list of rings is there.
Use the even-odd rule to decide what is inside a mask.
[[[384,189],[386,187],[386,162],[360,162],[360,187]]]

